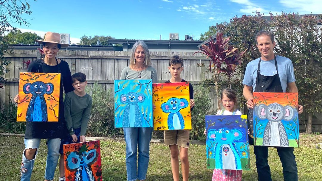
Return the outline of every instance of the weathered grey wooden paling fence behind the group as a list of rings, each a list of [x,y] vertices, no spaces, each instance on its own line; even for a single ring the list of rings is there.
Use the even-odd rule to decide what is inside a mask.
[[[4,84],[5,88],[0,89],[0,108],[6,107],[8,101],[13,100],[14,95],[18,93],[19,72],[27,71],[27,66],[23,62],[36,60],[40,55],[37,52],[38,50],[15,50],[13,54],[6,54],[5,57],[11,61],[11,64],[8,65],[10,72],[5,75],[7,80]],[[114,80],[119,79],[122,69],[129,65],[129,53],[127,51],[60,50],[57,58],[69,64],[71,74],[75,72],[86,74],[89,86],[97,82],[105,90],[109,88],[114,90]],[[179,55],[184,59],[183,79],[196,85],[199,81],[211,78],[211,74],[205,73],[205,67],[197,66],[197,63],[204,63],[206,66],[209,64],[209,60],[201,53],[192,56],[192,52],[150,52],[150,55],[159,82],[170,79],[168,61],[173,55]],[[212,110],[217,109],[215,91],[212,90],[209,96],[213,103]],[[321,117],[320,114],[314,117],[313,132],[322,132]],[[300,123],[300,130],[305,130],[302,123]]]

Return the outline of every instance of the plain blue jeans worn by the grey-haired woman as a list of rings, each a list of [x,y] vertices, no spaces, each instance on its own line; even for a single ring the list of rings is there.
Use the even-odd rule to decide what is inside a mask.
[[[123,128],[126,142],[128,181],[145,180],[149,165],[150,140],[153,128]],[[138,164],[137,164],[138,147]]]

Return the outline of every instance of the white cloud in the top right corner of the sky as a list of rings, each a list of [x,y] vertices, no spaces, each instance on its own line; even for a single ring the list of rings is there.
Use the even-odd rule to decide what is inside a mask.
[[[283,6],[293,8],[299,14],[320,14],[322,1],[321,0],[279,0]]]

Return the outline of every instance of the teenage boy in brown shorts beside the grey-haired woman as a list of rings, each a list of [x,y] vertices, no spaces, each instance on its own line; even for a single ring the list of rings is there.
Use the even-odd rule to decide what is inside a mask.
[[[173,56],[169,60],[169,72],[171,74],[170,80],[166,83],[174,82],[186,82],[180,77],[181,72],[183,71],[183,59],[179,56]],[[190,90],[190,109],[194,107],[194,89],[189,83]],[[189,133],[190,130],[165,130],[164,131],[164,142],[165,145],[169,145],[171,152],[171,167],[173,180],[179,181],[179,149],[180,147],[180,160],[181,160],[181,170],[183,181],[188,181],[189,178],[189,160],[188,160],[188,147],[189,147]]]

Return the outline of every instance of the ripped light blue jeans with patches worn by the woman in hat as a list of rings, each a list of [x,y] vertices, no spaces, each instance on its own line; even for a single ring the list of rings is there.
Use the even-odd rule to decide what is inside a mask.
[[[20,169],[21,181],[30,181],[31,173],[33,172],[33,164],[35,162],[38,148],[40,144],[40,140],[38,138],[27,138],[24,139],[24,152],[22,154],[22,162]],[[60,147],[60,138],[48,139],[47,148],[47,160],[46,160],[46,170],[45,170],[45,179],[53,180],[54,173],[57,166],[58,158],[59,158],[59,147]],[[29,148],[37,148],[35,158],[32,160],[28,160],[25,156],[25,150]]]

